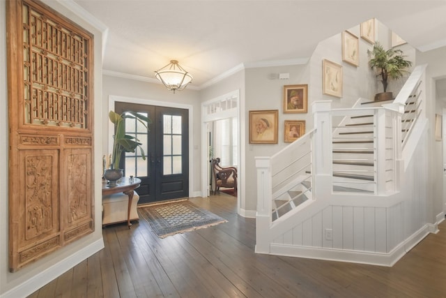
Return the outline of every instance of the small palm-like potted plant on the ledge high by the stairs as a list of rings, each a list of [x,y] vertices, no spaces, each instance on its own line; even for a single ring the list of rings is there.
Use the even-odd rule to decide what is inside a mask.
[[[383,83],[383,93],[376,94],[375,100],[389,100],[393,98],[392,92],[387,92],[387,80],[397,80],[408,73],[407,68],[412,66],[412,61],[406,60],[406,56],[400,49],[384,50],[380,43],[376,42],[372,50],[367,50],[369,66],[376,70],[376,77],[380,77]]]

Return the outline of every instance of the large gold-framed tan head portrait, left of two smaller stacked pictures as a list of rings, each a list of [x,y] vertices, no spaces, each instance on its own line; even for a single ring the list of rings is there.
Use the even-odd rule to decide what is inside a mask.
[[[279,110],[249,111],[249,144],[277,144]]]

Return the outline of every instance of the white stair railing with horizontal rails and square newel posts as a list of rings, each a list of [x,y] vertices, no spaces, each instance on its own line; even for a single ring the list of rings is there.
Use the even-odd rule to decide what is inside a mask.
[[[255,158],[257,253],[270,253],[270,245],[277,237],[270,230],[277,230],[284,223],[290,225],[286,228],[293,228],[294,221],[288,221],[293,215],[305,212],[318,198],[326,201],[334,195],[333,186],[339,181],[333,179],[333,140],[337,140],[341,127],[333,124],[333,117],[341,119],[338,123],[345,125],[348,124],[346,117],[356,117],[364,113],[372,115],[371,124],[367,124],[369,128],[373,128],[371,139],[374,140],[372,195],[384,196],[399,191],[401,151],[417,119],[425,117],[425,69],[426,66],[417,66],[394,102],[381,107],[332,110],[331,101],[314,102],[314,130],[274,156]],[[406,111],[413,110],[413,107],[416,110],[415,117],[405,121],[405,114],[408,114]],[[296,188],[298,185],[300,188]],[[305,195],[307,201],[298,200],[300,204],[295,204],[296,196],[286,198],[286,193],[290,190],[297,196]],[[369,198],[370,194],[367,193],[367,196]],[[360,199],[360,193],[356,198]],[[315,206],[318,204],[313,205],[312,210]]]

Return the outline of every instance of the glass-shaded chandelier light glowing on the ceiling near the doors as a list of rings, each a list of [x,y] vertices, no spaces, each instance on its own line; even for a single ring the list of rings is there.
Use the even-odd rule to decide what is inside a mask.
[[[155,77],[171,91],[181,91],[187,84],[192,82],[192,75],[187,73],[184,68],[178,64],[178,61],[171,60],[167,66],[155,71]]]

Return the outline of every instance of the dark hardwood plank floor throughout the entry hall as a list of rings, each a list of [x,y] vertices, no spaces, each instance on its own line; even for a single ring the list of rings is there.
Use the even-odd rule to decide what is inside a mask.
[[[224,193],[192,198],[229,222],[159,239],[141,218],[29,297],[446,297],[446,221],[394,267],[254,253],[255,221]]]

